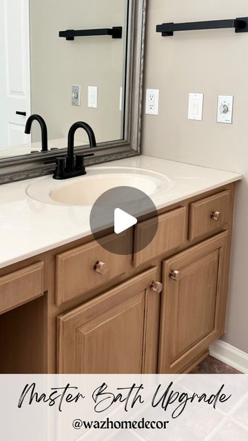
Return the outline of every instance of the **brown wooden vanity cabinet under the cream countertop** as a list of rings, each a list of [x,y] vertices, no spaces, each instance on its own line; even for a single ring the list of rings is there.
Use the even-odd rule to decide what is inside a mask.
[[[0,269],[0,372],[192,370],[225,332],[234,192],[162,209],[144,249],[154,218],[103,235],[127,253],[88,237]]]

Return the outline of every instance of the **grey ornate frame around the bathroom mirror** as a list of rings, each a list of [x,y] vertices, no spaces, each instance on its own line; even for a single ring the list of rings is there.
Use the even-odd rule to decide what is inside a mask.
[[[141,120],[143,107],[143,70],[145,48],[145,16],[147,0],[127,0],[128,39],[126,61],[125,137],[120,141],[99,143],[94,157],[85,158],[85,165],[94,165],[141,154]],[[87,122],[87,121],[86,121]],[[65,156],[66,149],[0,160],[0,185],[45,176],[54,171],[55,160]],[[76,147],[77,153],[89,153],[89,147]]]

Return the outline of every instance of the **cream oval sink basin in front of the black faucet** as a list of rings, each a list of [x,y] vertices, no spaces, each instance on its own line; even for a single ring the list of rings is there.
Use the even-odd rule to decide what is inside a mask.
[[[56,205],[92,206],[101,194],[114,187],[134,187],[147,196],[172,186],[162,174],[125,167],[88,169],[86,176],[55,181],[51,176],[29,185],[27,194],[36,201]]]

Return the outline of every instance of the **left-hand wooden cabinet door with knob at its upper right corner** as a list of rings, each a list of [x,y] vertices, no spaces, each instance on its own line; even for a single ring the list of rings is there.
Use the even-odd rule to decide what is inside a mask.
[[[58,318],[59,373],[152,373],[160,295],[156,267]]]

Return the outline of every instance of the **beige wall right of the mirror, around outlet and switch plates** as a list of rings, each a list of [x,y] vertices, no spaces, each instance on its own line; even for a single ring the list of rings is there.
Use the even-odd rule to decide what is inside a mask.
[[[145,88],[160,89],[159,116],[144,116],[143,153],[242,172],[238,185],[227,333],[248,352],[248,34],[234,30],[177,32],[156,24],[248,16],[247,0],[150,0]],[[189,92],[205,94],[203,121],[187,120]],[[216,123],[218,94],[234,94],[233,125]]]

